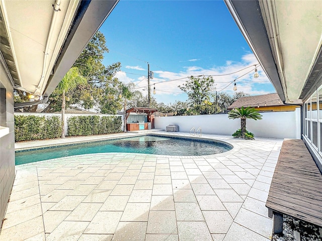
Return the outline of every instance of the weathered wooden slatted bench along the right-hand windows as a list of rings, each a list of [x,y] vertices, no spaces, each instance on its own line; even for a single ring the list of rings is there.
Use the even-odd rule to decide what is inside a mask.
[[[302,140],[285,140],[266,207],[273,233],[283,232],[283,214],[322,226],[322,175]]]

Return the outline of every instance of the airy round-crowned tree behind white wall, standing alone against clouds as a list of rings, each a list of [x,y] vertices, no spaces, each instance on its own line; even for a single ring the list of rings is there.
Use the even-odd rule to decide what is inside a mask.
[[[200,114],[201,105],[205,103],[205,100],[209,101],[211,97],[213,84],[214,80],[211,76],[203,76],[202,78],[191,76],[186,83],[178,87],[187,93],[192,108],[195,109],[196,114]]]

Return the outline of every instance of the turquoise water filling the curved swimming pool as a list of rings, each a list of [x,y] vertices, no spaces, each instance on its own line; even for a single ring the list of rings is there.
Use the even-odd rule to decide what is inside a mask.
[[[200,156],[229,151],[231,147],[210,141],[139,136],[16,152],[16,165],[81,154],[126,152],[170,156]]]

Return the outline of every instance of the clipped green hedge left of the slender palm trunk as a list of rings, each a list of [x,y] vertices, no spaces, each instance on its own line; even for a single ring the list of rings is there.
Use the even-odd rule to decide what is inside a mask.
[[[15,141],[33,141],[61,136],[58,116],[15,115]]]

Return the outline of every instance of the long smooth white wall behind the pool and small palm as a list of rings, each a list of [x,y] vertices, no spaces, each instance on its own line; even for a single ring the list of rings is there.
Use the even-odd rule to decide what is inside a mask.
[[[295,111],[263,112],[263,119],[247,119],[247,130],[255,137],[300,139],[300,108]],[[228,114],[155,117],[155,129],[178,125],[180,132],[199,127],[202,133],[231,135],[240,128],[240,119],[229,119]]]

